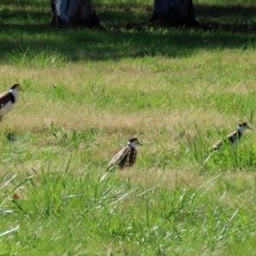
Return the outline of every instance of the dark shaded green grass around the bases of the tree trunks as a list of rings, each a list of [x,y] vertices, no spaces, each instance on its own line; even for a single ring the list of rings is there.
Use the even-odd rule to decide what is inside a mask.
[[[146,55],[177,58],[193,55],[201,49],[246,49],[255,45],[256,6],[195,5],[195,11],[197,19],[204,21],[201,26],[166,28],[143,21],[149,20],[151,15],[146,5],[140,9],[135,5],[122,8],[96,5],[105,31],[36,25],[38,20],[44,20],[44,24],[50,22],[49,13],[42,9],[29,9],[26,13],[18,9],[4,15],[0,12],[0,58],[3,62],[14,62],[19,56],[33,59],[42,52],[46,57],[58,54],[69,61],[119,60]],[[3,22],[17,17],[20,21]],[[135,21],[135,26],[128,29],[131,20]]]

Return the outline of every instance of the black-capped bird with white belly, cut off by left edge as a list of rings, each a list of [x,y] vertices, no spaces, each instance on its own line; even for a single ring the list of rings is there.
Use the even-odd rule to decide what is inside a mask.
[[[9,113],[15,107],[20,90],[22,90],[20,84],[14,84],[10,90],[0,95],[0,122],[3,121],[3,115]]]

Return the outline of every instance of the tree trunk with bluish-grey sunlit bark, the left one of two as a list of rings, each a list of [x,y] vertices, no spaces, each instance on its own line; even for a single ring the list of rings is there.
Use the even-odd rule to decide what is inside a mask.
[[[54,26],[101,27],[90,0],[50,0]]]

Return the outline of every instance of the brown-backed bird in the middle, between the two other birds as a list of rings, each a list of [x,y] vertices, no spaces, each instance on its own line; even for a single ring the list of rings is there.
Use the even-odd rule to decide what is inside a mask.
[[[137,137],[131,138],[127,146],[113,156],[107,167],[112,169],[113,166],[119,166],[119,168],[123,169],[126,166],[133,166],[137,159],[137,145],[142,146]]]

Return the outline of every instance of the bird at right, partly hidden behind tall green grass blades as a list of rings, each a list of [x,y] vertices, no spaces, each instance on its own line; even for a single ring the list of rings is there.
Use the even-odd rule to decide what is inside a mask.
[[[247,130],[247,129],[252,130],[252,128],[251,128],[246,122],[244,122],[244,123],[239,123],[239,124],[237,125],[236,131],[231,132],[231,133],[226,137],[226,139],[224,139],[224,140],[219,140],[217,143],[215,143],[215,144],[212,146],[212,148],[215,149],[215,150],[218,150],[218,149],[222,146],[222,144],[223,144],[224,141],[226,141],[227,143],[230,143],[230,145],[232,145],[232,146],[235,146],[236,143],[241,139],[241,136],[242,136],[243,132],[244,132],[245,130]]]

